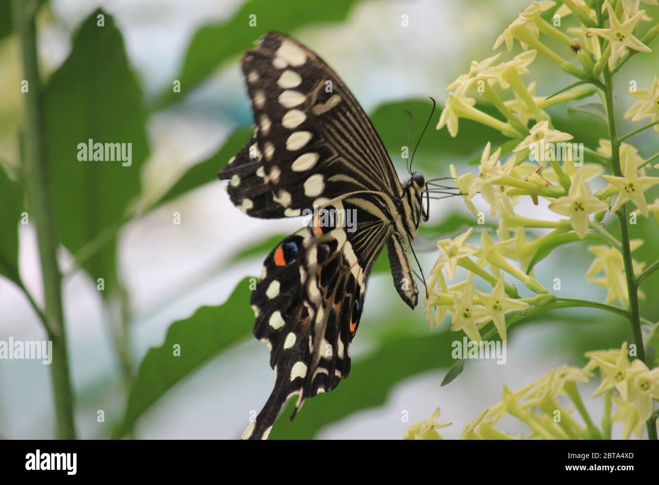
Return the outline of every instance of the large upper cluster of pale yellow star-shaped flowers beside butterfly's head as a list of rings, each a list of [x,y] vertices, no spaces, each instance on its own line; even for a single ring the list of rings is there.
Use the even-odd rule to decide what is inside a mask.
[[[569,28],[566,34],[545,20],[544,13],[555,7],[555,2],[532,3],[494,44],[494,49],[505,44],[511,51],[518,41],[523,49],[521,53],[508,61],[501,61],[502,53],[484,61],[473,61],[469,73],[447,87],[450,94],[438,129],[447,127],[450,135],[456,137],[459,120],[470,119],[500,131],[510,140],[496,148],[487,143],[475,173],[458,174],[451,166],[455,187],[478,223],[484,225],[488,216],[498,217],[498,227],[496,235],[491,225],[480,231],[480,246],[468,242],[472,228],[438,242],[440,257],[432,269],[424,301],[426,316],[433,327],[441,325],[448,313],[451,330],[462,330],[472,340],[481,339],[480,329],[490,321],[501,338],[506,339],[506,313],[519,314],[540,305],[549,308],[551,305],[547,304],[558,298],[533,277],[532,268],[541,259],[540,250],[585,238],[602,242],[588,248],[596,259],[588,270],[587,281],[608,289],[606,304],[618,302],[623,309],[629,305],[625,276],[629,268],[623,259],[623,242],[606,230],[603,220],[606,214],[627,210],[625,205],[629,202],[633,210],[645,217],[652,210],[659,221],[659,199],[653,204],[646,200],[648,189],[659,184],[659,176],[646,173],[659,154],[644,160],[635,146],[623,143],[622,139],[627,137],[613,141],[601,139],[598,147],[584,148],[571,133],[554,125],[547,110],[590,98],[603,90],[605,75],[612,76],[633,52],[650,51],[648,44],[656,38],[659,26],[655,25],[639,40],[634,36],[639,22],[650,19],[645,11],[639,10],[638,1],[617,1],[615,7],[604,2],[599,11],[588,5],[592,2],[565,1],[555,11],[555,16],[572,14],[579,22],[578,28]],[[581,67],[548,47],[546,40],[553,44],[560,42]],[[523,76],[530,73],[530,66],[540,56],[577,77],[580,81],[575,84],[581,85],[552,96],[538,96],[536,84],[526,84]],[[471,93],[474,97],[469,97]],[[659,129],[658,79],[654,78],[648,90],[633,94],[638,101],[625,117],[650,121],[639,131],[649,127]],[[480,110],[477,107],[480,103],[490,104],[501,116]],[[601,112],[610,109],[602,106]],[[612,146],[616,146],[616,154]],[[654,168],[659,168],[659,164]],[[593,186],[604,188],[596,191]],[[534,205],[544,199],[548,209],[557,216],[522,216],[515,207],[523,197],[529,197]],[[489,206],[489,214],[476,207],[480,199]],[[542,230],[542,234],[529,239],[531,231],[537,230]],[[631,250],[640,244],[631,242]],[[465,278],[447,284],[447,280],[456,277],[457,267],[466,270]],[[632,267],[635,275],[644,269],[642,263],[633,260]],[[478,278],[492,286],[490,294],[476,289]],[[512,284],[513,279],[521,281],[534,296],[522,298]],[[643,292],[638,294],[643,298]]]

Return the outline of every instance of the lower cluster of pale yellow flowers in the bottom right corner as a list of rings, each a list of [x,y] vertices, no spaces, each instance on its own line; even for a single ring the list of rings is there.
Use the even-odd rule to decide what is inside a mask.
[[[621,437],[632,433],[640,437],[652,414],[652,400],[659,400],[659,368],[649,370],[641,360],[629,361],[627,342],[621,348],[587,352],[584,368],[560,366],[540,376],[534,383],[517,391],[503,387],[501,401],[485,408],[465,425],[461,439],[601,439],[610,438],[612,424],[621,422]],[[592,397],[604,395],[604,418],[598,428],[586,410],[578,383],[587,383],[599,370],[601,382]],[[567,399],[565,399],[567,398]],[[574,408],[565,407],[565,402]],[[612,412],[611,403],[616,405]],[[569,404],[568,404],[569,405]],[[581,416],[577,420],[575,414]],[[529,429],[527,434],[512,436],[496,428],[504,416],[512,416]],[[434,428],[439,409],[427,420],[419,422],[405,436],[415,439],[437,439]]]

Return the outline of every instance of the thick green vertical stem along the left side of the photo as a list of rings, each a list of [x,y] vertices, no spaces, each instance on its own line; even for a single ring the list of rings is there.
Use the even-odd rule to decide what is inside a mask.
[[[50,365],[58,439],[75,439],[73,416],[74,397],[69,376],[67,340],[61,300],[61,275],[57,267],[57,238],[55,238],[53,202],[50,194],[48,163],[45,150],[45,121],[43,92],[39,78],[36,25],[38,3],[12,0],[14,28],[20,40],[24,77],[29,91],[25,94],[26,152],[23,170],[26,193],[36,221],[36,234],[42,267],[43,295],[49,339],[53,342],[53,361]]]

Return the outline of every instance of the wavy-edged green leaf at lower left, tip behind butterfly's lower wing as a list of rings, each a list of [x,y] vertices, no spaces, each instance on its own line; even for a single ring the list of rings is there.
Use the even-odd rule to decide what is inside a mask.
[[[244,278],[224,304],[204,306],[169,326],[165,342],[152,347],[140,364],[121,424],[112,437],[123,437],[158,399],[223,350],[252,335],[250,278]],[[180,356],[174,355],[179,345]]]

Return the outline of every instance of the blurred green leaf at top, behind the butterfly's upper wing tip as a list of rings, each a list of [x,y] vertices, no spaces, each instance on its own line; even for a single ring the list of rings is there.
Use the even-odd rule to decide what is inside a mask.
[[[176,78],[181,81],[181,90],[190,92],[227,60],[252,48],[270,30],[290,33],[309,24],[340,22],[357,3],[358,0],[334,0],[331,7],[319,8],[308,0],[287,0],[285,7],[273,1],[248,0],[227,22],[204,26],[194,34],[183,71]],[[256,26],[250,25],[252,19]],[[167,106],[177,96],[180,94],[168,88],[156,105]]]

